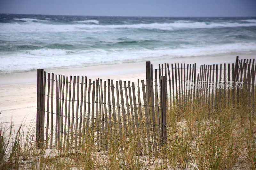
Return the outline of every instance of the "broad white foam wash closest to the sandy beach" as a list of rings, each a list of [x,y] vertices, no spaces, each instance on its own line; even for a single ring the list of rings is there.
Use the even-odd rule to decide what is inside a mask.
[[[29,71],[37,68],[53,69],[77,66],[101,65],[107,63],[138,62],[150,59],[180,58],[193,56],[210,56],[236,54],[237,52],[255,53],[256,43],[233,43],[228,45],[209,45],[187,47],[184,49],[156,48],[149,49],[91,49],[69,50],[39,49],[27,50],[23,53],[6,55],[0,58],[0,73]],[[33,56],[33,58],[32,58]],[[108,56],[108,57],[106,57]]]

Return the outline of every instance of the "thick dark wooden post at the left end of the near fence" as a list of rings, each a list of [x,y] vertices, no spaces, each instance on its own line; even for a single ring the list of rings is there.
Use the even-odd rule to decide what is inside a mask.
[[[36,100],[36,148],[43,148],[44,144],[44,70],[37,69],[37,100]]]

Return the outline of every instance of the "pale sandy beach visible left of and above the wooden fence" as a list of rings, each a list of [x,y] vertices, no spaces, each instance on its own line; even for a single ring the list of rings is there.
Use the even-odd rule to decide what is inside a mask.
[[[255,55],[238,54],[239,59],[256,58]],[[235,63],[236,55],[212,56],[212,57],[189,57],[175,59],[151,60],[153,68],[158,69],[159,63],[197,63],[200,64],[219,64]],[[65,76],[87,76],[90,79],[100,78],[102,80],[129,80],[137,82],[137,79],[146,78],[145,61],[137,63],[108,64],[100,66],[58,69],[44,71],[62,74]],[[36,78],[37,72],[23,72],[0,74],[0,124],[8,126],[11,117],[15,125],[20,125],[26,120],[26,124],[36,121]],[[24,123],[24,122],[23,122]]]

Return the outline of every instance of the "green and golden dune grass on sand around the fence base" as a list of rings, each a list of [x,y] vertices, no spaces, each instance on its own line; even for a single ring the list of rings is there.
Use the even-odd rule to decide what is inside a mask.
[[[99,145],[91,135],[96,129],[89,129],[80,147],[70,147],[70,141],[36,149],[34,127],[14,132],[11,123],[0,129],[0,169],[256,169],[254,106],[244,99],[214,107],[193,99],[168,107],[166,145],[151,156],[142,149],[145,127],[128,136],[107,134]]]

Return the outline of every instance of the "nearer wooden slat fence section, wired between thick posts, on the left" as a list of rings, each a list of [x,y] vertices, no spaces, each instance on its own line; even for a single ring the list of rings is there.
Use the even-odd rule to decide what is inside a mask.
[[[106,140],[110,138],[132,136],[141,136],[136,143],[145,154],[164,146],[166,101],[165,97],[163,102],[158,99],[159,93],[165,96],[165,77],[160,82],[138,80],[135,85],[130,81],[114,84],[110,79],[54,75],[42,69],[37,73],[38,148],[44,144],[50,148],[80,148],[88,136],[95,138],[99,149],[108,148]]]

